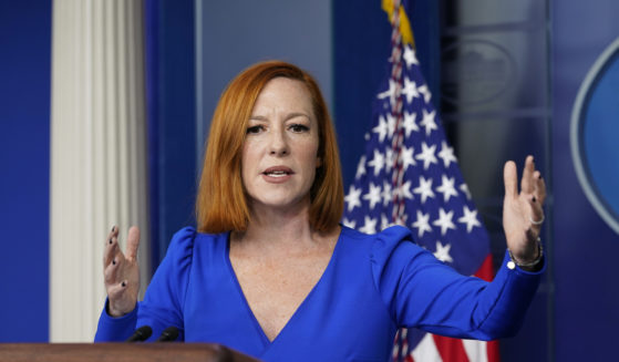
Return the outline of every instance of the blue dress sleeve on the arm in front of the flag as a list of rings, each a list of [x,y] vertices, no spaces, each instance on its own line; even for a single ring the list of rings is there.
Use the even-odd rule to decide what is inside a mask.
[[[540,280],[540,272],[507,268],[493,282],[460,275],[412,242],[410,230],[391,227],[375,235],[372,273],[399,327],[492,340],[514,335]]]

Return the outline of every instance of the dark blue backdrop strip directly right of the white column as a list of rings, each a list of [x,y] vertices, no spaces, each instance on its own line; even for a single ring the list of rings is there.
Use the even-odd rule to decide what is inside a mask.
[[[153,271],[174,232],[195,225],[194,1],[145,1]]]

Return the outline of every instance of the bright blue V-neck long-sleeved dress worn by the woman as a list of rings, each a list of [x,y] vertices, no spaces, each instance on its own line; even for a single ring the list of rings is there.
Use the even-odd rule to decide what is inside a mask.
[[[395,331],[481,340],[516,333],[540,272],[503,262],[493,282],[464,277],[411,242],[406,228],[364,235],[342,227],[322,277],[271,342],[229,260],[229,232],[178,231],[133,312],[103,310],[95,341],[123,341],[136,327],[174,325],[186,342],[220,343],[264,361],[388,361]]]

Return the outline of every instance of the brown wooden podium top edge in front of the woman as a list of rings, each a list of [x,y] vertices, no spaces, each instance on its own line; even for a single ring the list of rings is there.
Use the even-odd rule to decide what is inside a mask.
[[[11,362],[259,362],[210,343],[0,343]]]

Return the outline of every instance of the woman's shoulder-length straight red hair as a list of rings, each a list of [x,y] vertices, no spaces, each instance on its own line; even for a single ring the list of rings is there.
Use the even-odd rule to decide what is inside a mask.
[[[243,144],[254,104],[275,77],[303,83],[319,128],[321,165],[310,189],[310,225],[319,231],[338,226],[343,211],[343,184],[336,131],[318,83],[296,65],[269,61],[237,75],[221,94],[213,115],[196,203],[198,231],[243,231],[250,215],[240,175]]]

